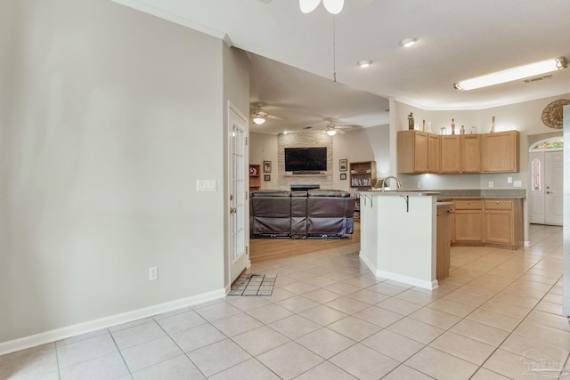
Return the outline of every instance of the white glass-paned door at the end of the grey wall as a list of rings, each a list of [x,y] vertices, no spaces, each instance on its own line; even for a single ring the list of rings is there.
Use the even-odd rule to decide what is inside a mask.
[[[249,265],[249,255],[246,249],[248,243],[247,162],[248,150],[247,128],[245,117],[229,107],[229,143],[230,149],[230,283],[240,276],[241,271]]]

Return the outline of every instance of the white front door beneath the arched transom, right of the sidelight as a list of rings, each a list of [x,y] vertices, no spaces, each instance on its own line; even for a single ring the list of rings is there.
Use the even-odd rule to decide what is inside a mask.
[[[562,225],[563,153],[562,150],[544,152],[544,222],[546,224]]]

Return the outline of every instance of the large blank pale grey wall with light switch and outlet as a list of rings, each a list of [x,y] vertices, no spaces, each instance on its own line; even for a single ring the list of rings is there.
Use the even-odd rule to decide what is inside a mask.
[[[109,1],[1,7],[0,343],[223,289],[222,41]]]

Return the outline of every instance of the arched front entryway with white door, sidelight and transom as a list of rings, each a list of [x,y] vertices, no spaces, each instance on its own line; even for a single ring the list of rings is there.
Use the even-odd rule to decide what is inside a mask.
[[[562,225],[562,137],[538,141],[529,150],[529,222]]]

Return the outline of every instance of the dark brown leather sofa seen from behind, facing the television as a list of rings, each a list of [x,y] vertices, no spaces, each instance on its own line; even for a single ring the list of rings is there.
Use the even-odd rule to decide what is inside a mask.
[[[354,230],[356,199],[342,190],[259,190],[249,198],[251,238],[342,238]]]

